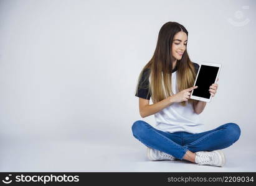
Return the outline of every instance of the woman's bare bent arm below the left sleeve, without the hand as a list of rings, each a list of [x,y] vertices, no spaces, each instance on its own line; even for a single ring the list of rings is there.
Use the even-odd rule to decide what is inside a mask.
[[[148,117],[149,115],[153,115],[154,113],[163,110],[165,107],[173,104],[174,101],[171,96],[166,99],[163,99],[156,104],[149,105],[149,100],[140,98],[139,105],[140,105],[140,115],[142,118]]]

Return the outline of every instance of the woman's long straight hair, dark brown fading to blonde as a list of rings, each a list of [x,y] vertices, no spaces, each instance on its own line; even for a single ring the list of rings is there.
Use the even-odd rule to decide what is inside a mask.
[[[149,84],[146,87],[148,88],[148,94],[151,95],[152,102],[155,104],[167,97],[174,95],[172,90],[172,71],[173,71],[173,56],[171,55],[171,46],[174,35],[180,31],[185,32],[188,35],[187,30],[183,25],[178,24],[177,22],[167,22],[164,24],[158,34],[158,42],[156,45],[156,50],[154,55],[141,70],[140,76],[138,78],[138,83],[136,86],[136,94],[138,93],[139,86],[145,84],[140,84],[143,72],[146,69],[149,69],[149,73],[146,73],[145,79],[143,81],[149,80]],[[196,73],[194,69],[194,64],[192,64],[187,50],[184,51],[181,60],[177,60],[176,63],[177,70],[177,84],[178,92],[183,91],[194,85],[196,79]],[[141,81],[142,82],[142,81]],[[192,104],[192,99],[189,99],[188,102]],[[180,103],[183,106],[186,106],[186,102]]]

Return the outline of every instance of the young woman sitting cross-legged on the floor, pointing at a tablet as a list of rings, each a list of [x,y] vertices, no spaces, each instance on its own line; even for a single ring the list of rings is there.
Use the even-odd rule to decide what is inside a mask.
[[[187,54],[185,27],[167,22],[161,27],[154,55],[142,69],[136,87],[142,118],[154,114],[156,128],[138,120],[132,132],[148,147],[151,161],[181,159],[199,165],[224,166],[224,149],[240,137],[235,123],[204,131],[199,121],[206,102],[190,99],[199,64]],[[218,84],[209,87],[214,97]],[[153,104],[149,105],[152,99]]]

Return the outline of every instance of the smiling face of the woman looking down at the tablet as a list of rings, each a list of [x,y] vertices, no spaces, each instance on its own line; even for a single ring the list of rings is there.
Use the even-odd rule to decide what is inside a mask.
[[[174,35],[171,55],[174,59],[181,60],[187,45],[187,35],[185,32],[178,32]]]

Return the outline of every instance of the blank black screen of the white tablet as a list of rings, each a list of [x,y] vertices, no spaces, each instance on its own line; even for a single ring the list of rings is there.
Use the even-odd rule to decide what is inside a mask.
[[[209,99],[211,97],[209,89],[215,82],[218,70],[219,67],[217,66],[207,66],[202,64],[195,85],[198,87],[197,89],[194,89],[192,95]]]

